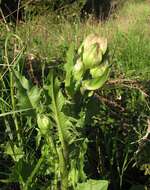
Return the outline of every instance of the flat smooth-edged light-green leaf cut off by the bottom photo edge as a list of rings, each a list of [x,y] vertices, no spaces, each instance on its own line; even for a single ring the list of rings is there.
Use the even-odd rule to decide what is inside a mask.
[[[108,181],[106,180],[88,180],[78,185],[76,190],[107,190]]]

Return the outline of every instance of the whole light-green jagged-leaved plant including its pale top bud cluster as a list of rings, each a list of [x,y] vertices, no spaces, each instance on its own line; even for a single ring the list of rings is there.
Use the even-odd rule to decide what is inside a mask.
[[[7,55],[7,41],[5,49]],[[23,145],[25,139],[18,133],[19,127],[16,128],[18,144],[11,144],[10,141],[5,145],[5,154],[10,155],[15,163],[10,181],[18,181],[21,189],[35,188],[36,183],[34,181],[39,173],[39,168],[44,167],[44,161],[47,162],[46,172],[54,176],[54,189],[59,188],[59,183],[62,190],[76,189],[79,183],[82,183],[78,186],[79,189],[81,187],[86,189],[89,186],[93,189],[95,186],[99,186],[100,189],[107,189],[107,181],[84,183],[87,180],[84,165],[88,146],[88,139],[84,135],[85,117],[88,113],[86,102],[91,98],[91,92],[99,89],[108,78],[110,66],[105,63],[107,56],[103,58],[106,49],[107,41],[104,38],[90,35],[85,39],[77,55],[82,64],[79,77],[77,73],[78,60],[75,56],[74,45],[71,45],[67,52],[67,63],[64,68],[58,67],[50,70],[41,88],[31,84],[21,74],[21,67],[17,69],[18,62],[15,62],[13,67],[8,67],[11,75],[10,81],[13,84],[11,97],[15,103],[13,104],[13,111],[6,113],[6,115],[12,114],[14,123],[19,126],[20,121],[16,116],[16,108],[18,108],[18,112],[25,111],[26,117],[22,115],[21,118],[25,118],[29,128],[31,127],[31,120],[37,123],[38,127],[35,128],[37,131],[36,148],[42,146],[40,158],[29,162],[28,159],[34,154],[29,153],[29,156],[26,157],[27,150]],[[92,53],[89,55],[87,52]],[[95,56],[94,62],[91,59],[92,54]],[[9,66],[9,61],[6,60]],[[98,73],[96,69],[98,69]],[[59,72],[64,74],[59,76],[57,74]],[[14,99],[14,93],[16,99]],[[74,106],[78,101],[81,101],[81,104],[77,111]],[[5,114],[1,116],[5,116]],[[42,138],[44,138],[44,143],[42,143]],[[31,169],[28,171],[27,177],[24,171],[29,166]],[[103,183],[105,183],[104,187]]]

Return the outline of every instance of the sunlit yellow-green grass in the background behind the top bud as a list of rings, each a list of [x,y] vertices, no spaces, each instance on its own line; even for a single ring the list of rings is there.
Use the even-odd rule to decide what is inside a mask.
[[[80,22],[78,18],[69,22],[63,16],[46,13],[20,24],[17,34],[25,43],[27,55],[33,53],[43,61],[51,62],[60,58],[64,61],[72,42],[77,48],[89,33],[98,33],[108,38],[121,72],[128,75],[131,70],[131,74],[141,75],[142,71],[144,76],[149,67],[149,9],[147,1],[130,1],[106,23],[92,18],[86,22]]]

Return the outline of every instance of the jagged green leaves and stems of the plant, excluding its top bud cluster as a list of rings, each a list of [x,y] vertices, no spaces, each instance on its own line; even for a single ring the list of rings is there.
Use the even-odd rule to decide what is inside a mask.
[[[26,159],[28,165],[26,151],[23,151],[24,146],[22,146],[22,141],[25,139],[20,139],[21,137],[19,137],[19,147],[17,147],[15,143],[13,146],[11,146],[11,143],[5,145],[5,154],[11,155],[14,160],[15,167],[12,168],[12,173],[15,173],[15,170],[19,172],[19,175],[15,177],[15,181],[18,181],[20,187],[25,190],[36,185],[33,179],[38,175],[39,167],[44,164],[43,161],[45,158],[47,158],[48,162],[46,171],[49,170],[49,174],[54,175],[54,188],[57,188],[59,185],[59,178],[62,190],[69,188],[76,189],[77,184],[84,182],[87,178],[84,172],[85,154],[88,145],[88,139],[84,136],[86,110],[84,106],[81,106],[81,111],[77,113],[72,107],[74,102],[77,101],[75,100],[75,96],[80,95],[79,88],[76,88],[78,81],[76,81],[73,76],[75,59],[74,47],[71,46],[67,53],[66,65],[64,66],[64,79],[58,77],[56,69],[52,69],[46,77],[44,86],[40,89],[36,85],[30,84],[16,69],[13,68],[10,70],[10,72],[13,72],[13,82],[15,82],[16,87],[16,107],[23,110],[32,109],[32,112],[34,111],[34,114],[28,111],[25,118],[30,121],[35,121],[36,118],[36,149],[42,146],[39,160],[34,163],[28,178],[25,178],[24,169],[18,166],[18,162],[19,165],[22,165]],[[100,62],[98,62],[98,64],[99,63]],[[11,79],[13,80],[13,78]],[[66,89],[62,89],[61,86],[65,82],[64,88],[66,87]],[[104,83],[104,81],[102,83]],[[98,88],[99,86],[97,86],[96,89]],[[72,89],[73,92],[70,96],[67,95],[69,94],[68,89]],[[94,89],[92,88],[92,90]],[[65,92],[67,93],[66,95]],[[44,100],[43,103],[42,100]],[[82,102],[86,102],[85,100],[86,95],[83,94]],[[27,125],[32,128],[32,126],[30,126],[31,123],[27,122]],[[52,132],[54,130],[55,132]],[[41,142],[42,137],[45,143]],[[52,170],[50,171],[50,169]],[[11,181],[14,179],[13,176],[14,174],[10,175]],[[88,183],[90,183],[90,181],[87,182],[87,186],[89,186]],[[92,186],[95,185],[96,184],[92,184]]]

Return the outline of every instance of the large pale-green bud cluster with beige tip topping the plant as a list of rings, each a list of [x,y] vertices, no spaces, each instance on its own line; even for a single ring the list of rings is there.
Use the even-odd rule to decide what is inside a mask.
[[[108,79],[110,66],[106,57],[103,58],[106,50],[107,40],[94,34],[87,36],[79,47],[79,58],[74,65],[72,74],[77,81],[76,87],[81,87],[82,93],[85,90],[101,88]],[[91,78],[88,72],[91,74]],[[67,70],[66,73],[68,73]]]

